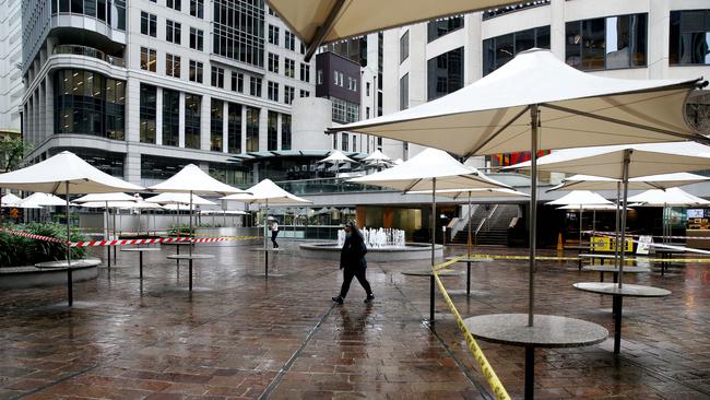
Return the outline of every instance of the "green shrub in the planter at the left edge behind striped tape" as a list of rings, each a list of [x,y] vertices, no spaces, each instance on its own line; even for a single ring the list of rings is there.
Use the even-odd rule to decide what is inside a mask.
[[[55,223],[10,225],[10,228],[62,240],[67,239],[67,226]],[[70,240],[81,242],[84,240],[84,236],[76,230],[72,230]],[[84,247],[71,249],[72,259],[80,259],[85,255],[86,248]],[[67,246],[62,243],[37,240],[0,231],[0,267],[32,266],[43,261],[63,260],[67,258],[66,256]]]

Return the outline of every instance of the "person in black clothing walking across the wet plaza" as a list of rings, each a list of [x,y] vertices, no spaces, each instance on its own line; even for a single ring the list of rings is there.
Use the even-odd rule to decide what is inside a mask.
[[[343,244],[343,248],[340,251],[340,269],[343,270],[343,285],[340,289],[340,295],[333,297],[333,302],[343,304],[353,278],[357,278],[365,293],[367,293],[365,303],[370,303],[375,299],[370,283],[367,282],[367,278],[365,277],[365,272],[367,271],[366,254],[367,247],[365,246],[363,234],[353,221],[348,222],[345,225],[345,244]]]

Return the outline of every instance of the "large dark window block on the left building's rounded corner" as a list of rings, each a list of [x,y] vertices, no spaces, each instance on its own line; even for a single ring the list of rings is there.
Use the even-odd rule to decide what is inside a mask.
[[[126,82],[66,69],[55,74],[55,133],[123,140]]]

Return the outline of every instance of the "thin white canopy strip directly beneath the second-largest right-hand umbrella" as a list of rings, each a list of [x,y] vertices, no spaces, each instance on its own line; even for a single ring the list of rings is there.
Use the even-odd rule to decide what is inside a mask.
[[[697,174],[690,174],[690,173],[673,173],[673,174],[639,176],[637,178],[629,179],[629,189],[631,190],[666,189],[676,186],[697,184],[706,180],[710,180],[710,177],[697,175]],[[620,183],[619,179],[579,174],[579,175],[573,175],[565,178],[561,184],[548,189],[547,191],[573,190],[573,189],[616,190],[617,184],[619,183]]]

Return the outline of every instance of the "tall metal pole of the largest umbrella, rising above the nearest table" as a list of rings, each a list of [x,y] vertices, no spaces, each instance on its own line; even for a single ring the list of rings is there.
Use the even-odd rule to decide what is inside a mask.
[[[537,105],[530,107],[531,140],[530,140],[530,264],[528,271],[528,327],[533,326],[535,309],[535,254],[537,247]],[[532,387],[532,381],[531,381]]]

